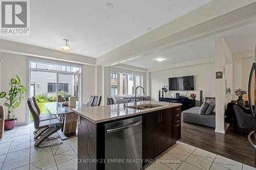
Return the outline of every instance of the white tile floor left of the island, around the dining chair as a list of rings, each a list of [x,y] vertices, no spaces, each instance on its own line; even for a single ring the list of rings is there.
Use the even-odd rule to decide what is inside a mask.
[[[63,144],[34,149],[33,124],[5,131],[0,141],[0,169],[77,169],[77,137]],[[60,138],[44,142],[50,145]]]

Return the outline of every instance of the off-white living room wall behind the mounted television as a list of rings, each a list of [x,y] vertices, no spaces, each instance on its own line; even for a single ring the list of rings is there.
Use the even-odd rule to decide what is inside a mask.
[[[151,72],[151,95],[152,100],[158,101],[158,90],[163,85],[168,85],[168,78],[181,77],[181,76],[195,76],[195,91],[188,91],[188,95],[191,92],[197,94],[197,106],[199,105],[199,91],[203,90],[203,97],[215,96],[215,64],[214,62],[188,65],[178,68],[170,68],[160,71]],[[177,91],[168,91],[169,95],[175,95]],[[181,94],[185,94],[185,91],[179,91]]]

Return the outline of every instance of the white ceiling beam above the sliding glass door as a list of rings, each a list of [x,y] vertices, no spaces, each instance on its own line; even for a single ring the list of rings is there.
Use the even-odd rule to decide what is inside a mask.
[[[96,63],[95,58],[92,57],[86,57],[71,53],[63,53],[57,50],[51,50],[49,48],[42,48],[7,40],[0,40],[0,52],[86,65],[95,65]]]

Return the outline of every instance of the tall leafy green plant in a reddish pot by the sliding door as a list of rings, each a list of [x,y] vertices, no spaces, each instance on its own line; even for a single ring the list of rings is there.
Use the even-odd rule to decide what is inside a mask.
[[[20,105],[20,102],[24,99],[24,92],[27,92],[26,87],[20,84],[18,76],[16,76],[16,79],[11,79],[9,84],[11,86],[10,90],[0,93],[0,98],[6,98],[4,106],[8,107],[7,119],[5,119],[5,130],[11,130],[16,126],[17,118],[15,118],[13,110]]]

